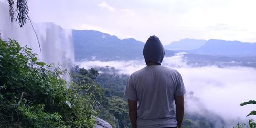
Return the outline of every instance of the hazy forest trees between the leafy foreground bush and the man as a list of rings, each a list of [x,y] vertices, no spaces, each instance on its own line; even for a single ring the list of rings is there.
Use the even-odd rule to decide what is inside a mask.
[[[131,127],[128,115],[128,104],[123,96],[129,76],[117,74],[116,72],[118,70],[114,67],[106,66],[98,69],[102,73],[99,74],[95,81],[104,89],[104,96],[106,97],[106,103],[103,105],[99,117],[108,122],[112,122],[112,124],[115,122],[115,125],[112,125],[112,127]],[[106,118],[104,110],[107,110],[116,120]]]

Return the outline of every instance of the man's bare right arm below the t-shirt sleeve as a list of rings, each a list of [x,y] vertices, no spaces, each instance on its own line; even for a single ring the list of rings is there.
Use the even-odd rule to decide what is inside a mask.
[[[184,96],[174,96],[174,101],[176,105],[176,120],[178,122],[177,127],[181,127],[181,123],[184,117]]]

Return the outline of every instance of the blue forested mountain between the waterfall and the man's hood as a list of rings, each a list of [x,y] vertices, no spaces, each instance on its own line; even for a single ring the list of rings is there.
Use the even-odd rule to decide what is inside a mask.
[[[119,39],[94,30],[72,30],[75,60],[143,60],[144,43],[133,38]],[[165,50],[165,56],[174,52]]]

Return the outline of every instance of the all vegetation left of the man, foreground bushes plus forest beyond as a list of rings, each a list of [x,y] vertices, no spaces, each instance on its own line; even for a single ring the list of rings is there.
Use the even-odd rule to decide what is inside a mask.
[[[0,49],[1,126],[93,127],[99,116],[113,127],[130,127],[123,99],[127,75],[76,66],[68,85],[60,77],[65,71],[39,62],[15,40],[1,40]]]

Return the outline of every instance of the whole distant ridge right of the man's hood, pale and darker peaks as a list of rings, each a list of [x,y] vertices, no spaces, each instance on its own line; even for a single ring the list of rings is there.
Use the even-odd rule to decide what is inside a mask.
[[[182,39],[164,46],[177,52],[187,52],[198,55],[245,57],[256,56],[256,43],[226,41],[220,39],[197,40]]]

